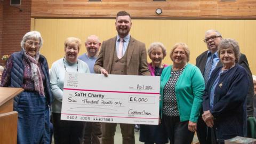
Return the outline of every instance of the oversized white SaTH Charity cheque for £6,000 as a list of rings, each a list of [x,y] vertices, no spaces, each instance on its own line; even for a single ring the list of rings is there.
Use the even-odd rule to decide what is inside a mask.
[[[66,73],[61,119],[158,124],[158,76]]]

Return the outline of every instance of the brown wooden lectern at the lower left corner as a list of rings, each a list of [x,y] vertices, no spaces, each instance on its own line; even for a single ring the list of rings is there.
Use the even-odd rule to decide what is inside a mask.
[[[0,143],[17,143],[18,113],[13,111],[13,98],[21,88],[0,87]]]

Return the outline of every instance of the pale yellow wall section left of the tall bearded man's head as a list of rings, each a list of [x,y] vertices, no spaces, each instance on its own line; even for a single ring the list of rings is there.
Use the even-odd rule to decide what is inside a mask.
[[[116,35],[115,20],[95,19],[35,19],[35,30],[41,32],[44,44],[40,50],[47,56],[49,67],[64,55],[64,41],[78,37],[82,41],[79,55],[85,52],[84,42],[89,35],[97,35],[101,42]]]

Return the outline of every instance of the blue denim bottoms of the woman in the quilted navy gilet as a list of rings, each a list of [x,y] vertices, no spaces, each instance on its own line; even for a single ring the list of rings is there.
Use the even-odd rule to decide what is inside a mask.
[[[50,143],[50,113],[46,98],[38,92],[19,95],[17,143]]]

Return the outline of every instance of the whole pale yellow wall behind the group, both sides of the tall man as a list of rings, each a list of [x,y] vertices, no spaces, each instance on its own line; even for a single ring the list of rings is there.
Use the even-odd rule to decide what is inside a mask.
[[[203,42],[207,29],[217,29],[224,38],[234,38],[246,54],[252,73],[256,74],[256,20],[132,20],[131,35],[146,47],[152,42],[162,42],[170,52],[177,42],[185,42],[190,48],[190,63],[195,64],[197,55],[206,50]],[[31,30],[41,32],[44,39],[41,53],[49,67],[63,57],[63,43],[74,36],[85,41],[89,35],[97,35],[101,41],[116,35],[114,19],[31,19]],[[85,46],[79,55],[85,52]],[[164,63],[171,64],[169,54]]]

